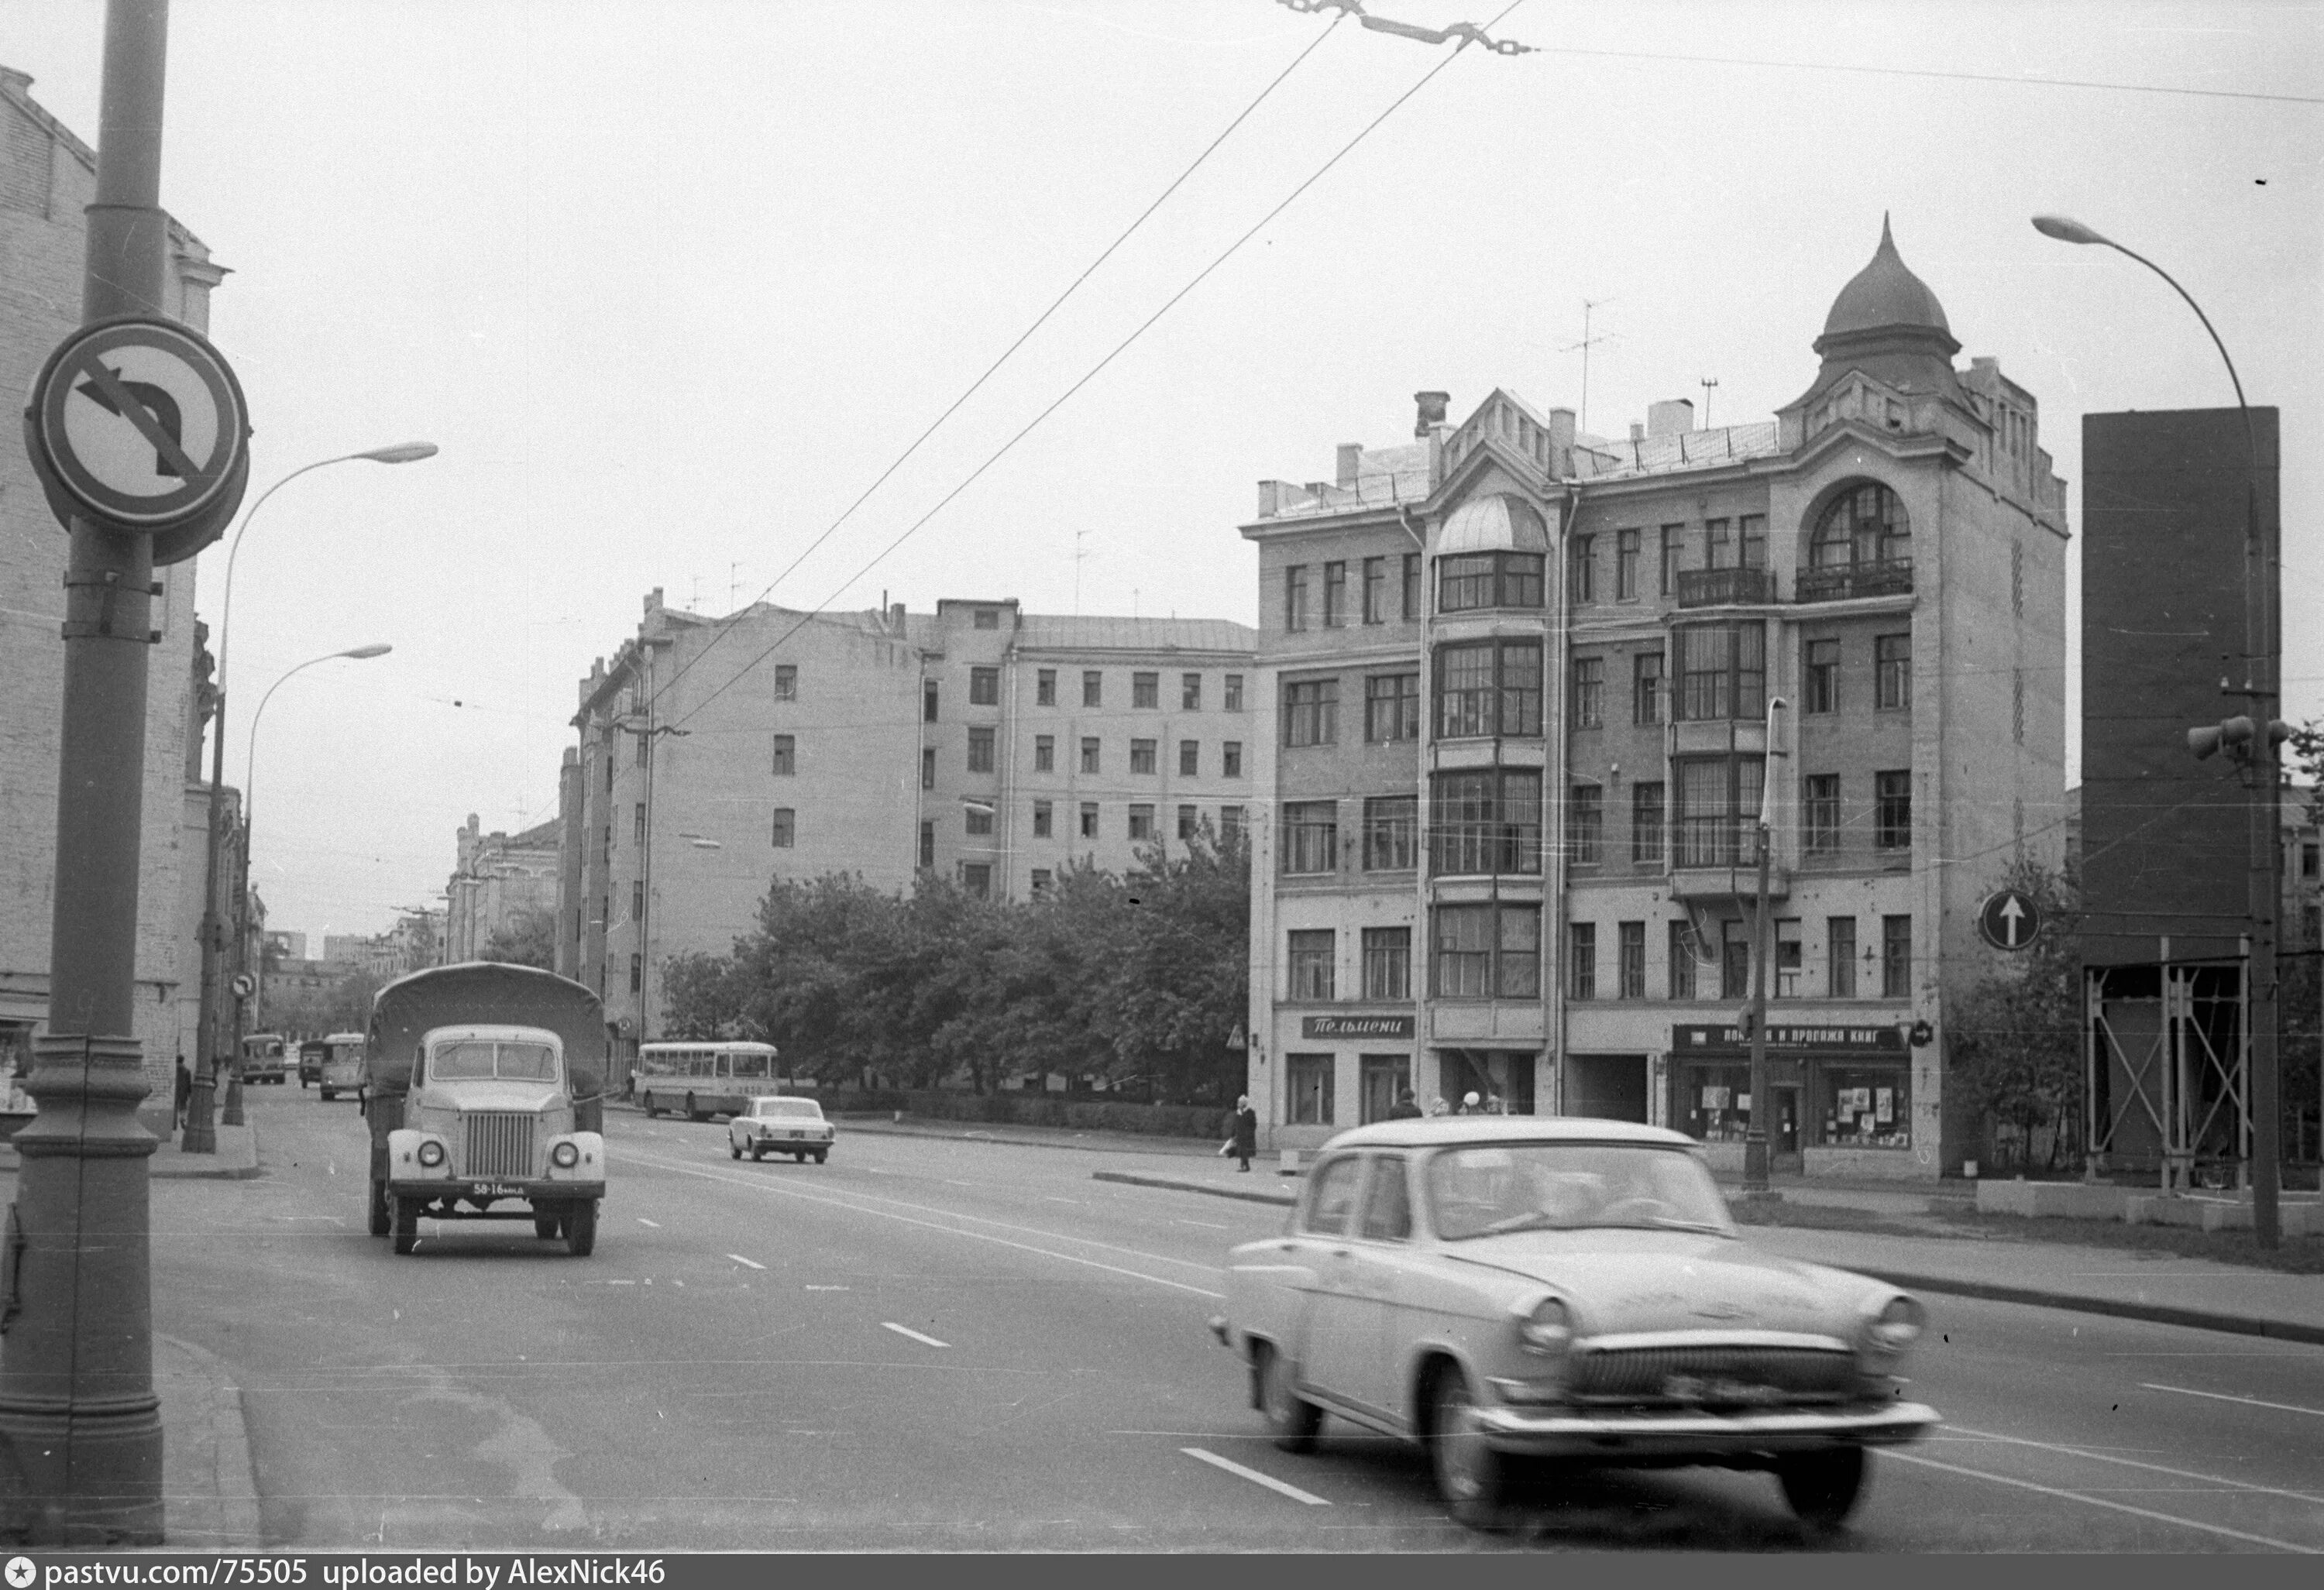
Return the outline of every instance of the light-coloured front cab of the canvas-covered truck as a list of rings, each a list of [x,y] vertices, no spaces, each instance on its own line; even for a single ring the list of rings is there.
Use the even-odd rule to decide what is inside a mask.
[[[462,1023],[421,1034],[386,1153],[386,1213],[397,1253],[421,1216],[532,1220],[572,1255],[597,1244],[604,1137],[576,1127],[565,1041],[548,1027]]]

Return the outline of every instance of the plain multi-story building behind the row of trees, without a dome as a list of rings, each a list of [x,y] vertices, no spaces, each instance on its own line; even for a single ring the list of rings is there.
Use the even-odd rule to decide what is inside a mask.
[[[581,681],[560,783],[558,972],[625,1048],[672,955],[723,955],[774,879],[934,872],[1027,900],[1060,869],[1239,828],[1257,637],[1013,600],[704,618],[646,597]]]

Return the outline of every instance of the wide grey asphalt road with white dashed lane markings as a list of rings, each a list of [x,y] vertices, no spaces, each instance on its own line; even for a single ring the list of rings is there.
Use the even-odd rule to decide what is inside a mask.
[[[1260,1432],[1204,1320],[1274,1209],[869,1132],[734,1162],[609,1111],[593,1258],[530,1223],[395,1258],[353,1104],[249,1102],[265,1176],[156,1183],[153,1323],[235,1367],[279,1546],[2324,1550],[2319,1348],[1929,1297],[1948,1425],[1845,1534],[1708,1469],[1543,1471],[1480,1534],[1411,1451]]]

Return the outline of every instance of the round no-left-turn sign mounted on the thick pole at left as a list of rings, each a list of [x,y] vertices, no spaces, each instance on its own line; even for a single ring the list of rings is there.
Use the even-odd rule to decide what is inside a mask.
[[[33,465],[79,511],[172,530],[242,477],[249,409],[209,342],[174,321],[116,316],[65,337],[26,407]]]

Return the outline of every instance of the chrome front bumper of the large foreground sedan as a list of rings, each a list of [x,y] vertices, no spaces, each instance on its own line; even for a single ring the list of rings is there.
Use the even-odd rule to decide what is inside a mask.
[[[1813,1453],[1831,1446],[1899,1446],[1938,1425],[1920,1402],[1852,1404],[1838,1409],[1755,1409],[1745,1413],[1583,1413],[1571,1409],[1478,1409],[1494,1451],[1529,1458],[1727,1458],[1745,1453]]]

